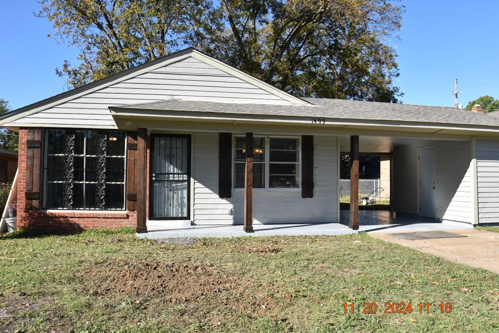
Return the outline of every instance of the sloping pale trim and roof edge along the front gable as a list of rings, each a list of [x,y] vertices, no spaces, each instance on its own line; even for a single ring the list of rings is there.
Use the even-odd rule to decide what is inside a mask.
[[[48,109],[50,107],[56,106],[58,104],[64,103],[68,100],[81,97],[83,95],[86,95],[90,92],[94,92],[96,90],[108,87],[112,84],[121,82],[123,80],[132,78],[136,75],[140,75],[142,73],[145,73],[147,71],[186,59],[188,57],[193,57],[195,59],[198,59],[202,62],[205,62],[209,65],[212,65],[215,68],[218,68],[224,72],[227,72],[230,75],[233,75],[237,78],[240,78],[246,82],[249,82],[275,96],[278,96],[282,98],[283,100],[287,101],[288,103],[294,103],[294,104],[307,104],[307,102],[299,97],[293,96],[279,88],[274,87],[271,84],[268,84],[260,79],[255,78],[254,76],[251,76],[250,74],[247,74],[233,66],[230,66],[220,60],[215,59],[212,56],[209,56],[206,53],[203,53],[193,47],[186,48],[184,50],[178,51],[171,53],[169,55],[166,55],[164,57],[146,62],[144,64],[138,65],[136,67],[124,70],[122,72],[116,73],[114,75],[102,78],[100,80],[96,80],[90,83],[87,83],[85,85],[82,85],[80,87],[71,89],[69,91],[65,91],[63,93],[60,93],[58,95],[43,99],[39,102],[21,107],[19,109],[10,111],[5,113],[0,117],[0,123],[5,124],[10,121],[28,116],[30,114]]]

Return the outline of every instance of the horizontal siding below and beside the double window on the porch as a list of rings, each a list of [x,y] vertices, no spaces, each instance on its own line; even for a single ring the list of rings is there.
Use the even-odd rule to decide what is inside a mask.
[[[336,137],[314,137],[314,197],[303,199],[300,191],[253,191],[253,223],[337,222]],[[194,223],[242,224],[244,193],[232,198],[218,195],[218,133],[194,136]],[[234,209],[234,215],[228,210]]]

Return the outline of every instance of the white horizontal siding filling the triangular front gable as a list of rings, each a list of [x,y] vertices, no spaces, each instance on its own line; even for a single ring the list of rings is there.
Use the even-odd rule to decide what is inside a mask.
[[[255,85],[189,57],[17,119],[13,123],[34,123],[40,126],[113,126],[115,123],[109,106],[147,103],[172,97],[236,103],[289,104]]]

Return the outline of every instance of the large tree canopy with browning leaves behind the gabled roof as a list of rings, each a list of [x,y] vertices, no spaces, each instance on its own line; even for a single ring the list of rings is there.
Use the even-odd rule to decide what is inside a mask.
[[[38,16],[78,66],[79,86],[186,45],[306,97],[398,102],[396,52],[403,6],[384,0],[40,0]]]

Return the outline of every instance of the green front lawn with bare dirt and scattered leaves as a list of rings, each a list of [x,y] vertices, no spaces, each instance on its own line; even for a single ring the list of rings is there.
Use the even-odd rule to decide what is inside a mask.
[[[497,274],[363,233],[184,246],[17,233],[0,251],[1,332],[499,332]],[[365,302],[413,312],[364,314]]]

